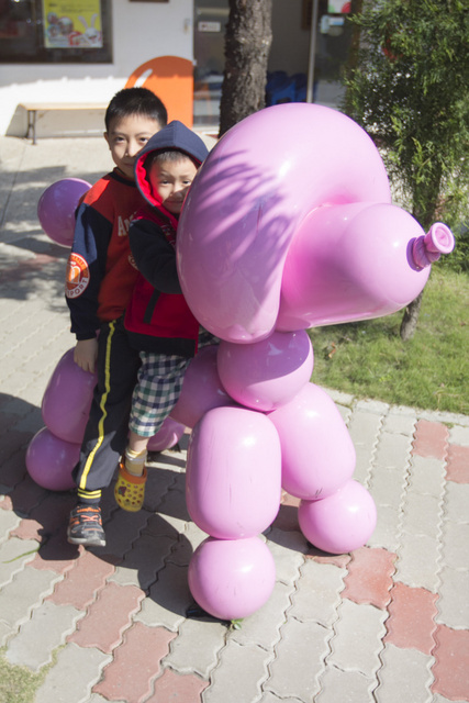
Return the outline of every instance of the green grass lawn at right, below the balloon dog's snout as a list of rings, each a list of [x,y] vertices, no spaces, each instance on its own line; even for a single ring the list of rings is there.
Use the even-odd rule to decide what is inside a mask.
[[[403,311],[309,331],[312,381],[423,410],[469,414],[469,277],[434,266],[417,330],[399,336]]]

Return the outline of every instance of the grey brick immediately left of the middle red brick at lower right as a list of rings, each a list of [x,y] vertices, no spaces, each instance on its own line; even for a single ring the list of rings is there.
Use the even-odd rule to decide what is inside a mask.
[[[338,614],[327,662],[344,671],[359,671],[371,679],[381,666],[379,655],[387,611],[344,600]]]

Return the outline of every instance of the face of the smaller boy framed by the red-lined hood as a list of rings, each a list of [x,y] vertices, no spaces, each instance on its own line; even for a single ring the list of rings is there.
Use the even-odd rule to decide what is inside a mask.
[[[161,205],[171,214],[178,215],[196,174],[192,160],[181,155],[177,161],[154,161],[148,179],[153,192],[161,199]]]

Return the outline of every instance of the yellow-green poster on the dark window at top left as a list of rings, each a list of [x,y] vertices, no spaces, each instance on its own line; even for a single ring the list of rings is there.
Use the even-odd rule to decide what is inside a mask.
[[[43,0],[46,48],[100,48],[100,0]]]

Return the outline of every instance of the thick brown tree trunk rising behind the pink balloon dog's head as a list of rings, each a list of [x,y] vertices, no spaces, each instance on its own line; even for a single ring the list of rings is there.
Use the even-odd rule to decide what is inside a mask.
[[[271,14],[272,0],[230,0],[219,136],[266,105]]]

